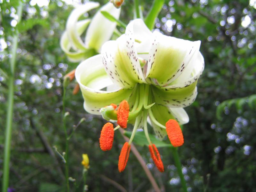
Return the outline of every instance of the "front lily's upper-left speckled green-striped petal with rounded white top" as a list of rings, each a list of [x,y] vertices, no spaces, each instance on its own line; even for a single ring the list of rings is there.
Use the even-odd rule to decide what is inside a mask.
[[[116,41],[108,41],[102,46],[103,63],[114,83],[124,88],[132,88],[137,83],[146,83],[140,67],[137,49],[147,52],[152,36],[142,20],[130,22],[125,34]],[[140,43],[135,42],[135,39]]]

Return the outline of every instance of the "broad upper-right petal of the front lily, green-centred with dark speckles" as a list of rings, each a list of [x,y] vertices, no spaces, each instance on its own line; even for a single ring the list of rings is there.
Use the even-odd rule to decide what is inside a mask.
[[[165,86],[177,79],[193,55],[197,55],[200,41],[192,42],[158,32],[154,32],[154,36],[146,77],[152,78],[157,85]]]

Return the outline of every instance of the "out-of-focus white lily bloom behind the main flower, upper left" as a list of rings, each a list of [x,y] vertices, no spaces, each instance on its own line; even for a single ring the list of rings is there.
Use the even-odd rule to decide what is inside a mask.
[[[108,41],[116,28],[116,23],[106,19],[100,11],[107,11],[116,19],[119,18],[121,9],[107,3],[91,19],[78,19],[86,12],[99,7],[96,2],[88,2],[74,9],[68,17],[66,31],[61,36],[61,49],[72,62],[82,61],[100,52],[103,43]],[[81,35],[86,31],[85,42]],[[73,49],[74,51],[71,51]]]

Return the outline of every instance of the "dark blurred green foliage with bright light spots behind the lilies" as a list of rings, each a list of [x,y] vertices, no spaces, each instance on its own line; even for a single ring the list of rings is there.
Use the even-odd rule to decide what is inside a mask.
[[[59,45],[73,6],[60,0],[51,0],[48,6],[41,7],[33,2],[25,2],[22,22],[15,27],[18,0],[0,0],[0,130],[4,133],[12,35],[19,28],[10,187],[16,191],[61,191],[65,183],[64,165],[52,146],[60,153],[65,150],[60,113],[62,78],[78,65],[67,60]],[[140,1],[144,17],[152,2]],[[133,19],[132,8],[129,0],[122,6],[120,20],[126,24]],[[165,1],[156,19],[156,30],[166,35],[201,40],[200,51],[205,60],[197,99],[186,108],[190,122],[183,126],[185,144],[179,148],[188,191],[256,191],[255,8],[253,0],[171,0]],[[89,16],[94,13],[92,10]],[[119,132],[111,151],[100,150],[98,139],[105,121],[84,111],[81,93],[72,95],[75,84],[72,82],[67,91],[69,132],[81,118],[86,121],[70,139],[69,176],[76,179],[70,182],[72,191],[75,185],[77,191],[83,189],[83,153],[90,158],[86,181],[89,191],[117,191],[102,176],[127,191],[152,191],[133,154],[126,170],[118,172],[118,156],[124,143]],[[253,107],[245,105],[251,97]],[[231,105],[231,101],[239,107]],[[216,117],[219,105],[221,118]],[[0,143],[4,143],[4,134],[0,135]],[[3,151],[2,144],[0,148]],[[179,191],[180,179],[170,148],[159,150],[164,173],[157,171],[146,146],[137,148],[163,191]],[[0,153],[1,168],[2,160]]]

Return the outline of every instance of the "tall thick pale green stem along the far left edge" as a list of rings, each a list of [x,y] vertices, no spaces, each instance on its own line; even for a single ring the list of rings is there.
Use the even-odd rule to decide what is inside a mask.
[[[18,6],[18,23],[21,19],[22,13],[22,3]],[[10,156],[11,156],[11,140],[12,140],[12,116],[13,116],[13,95],[14,95],[14,72],[15,72],[15,62],[16,62],[16,51],[18,46],[18,36],[19,31],[16,28],[16,33],[12,40],[12,57],[10,59],[11,74],[9,78],[9,93],[8,93],[8,104],[7,104],[7,120],[5,128],[5,142],[4,142],[4,169],[3,169],[3,186],[2,191],[6,192],[9,184],[9,166],[10,166]]]

